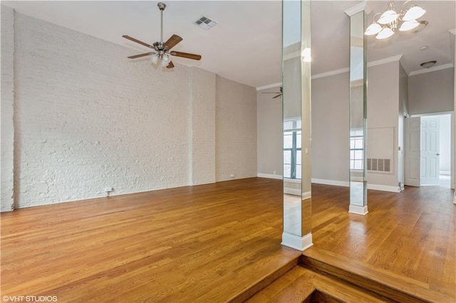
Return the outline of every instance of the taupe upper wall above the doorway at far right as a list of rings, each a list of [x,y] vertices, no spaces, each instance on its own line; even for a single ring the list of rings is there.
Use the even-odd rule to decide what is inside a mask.
[[[454,68],[411,75],[408,78],[410,115],[454,110]]]

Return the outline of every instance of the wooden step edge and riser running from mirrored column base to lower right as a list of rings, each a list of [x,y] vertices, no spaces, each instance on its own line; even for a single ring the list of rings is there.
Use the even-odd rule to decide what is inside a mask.
[[[299,264],[396,302],[455,302],[447,294],[430,290],[425,282],[372,267],[328,250],[310,248],[304,251]]]

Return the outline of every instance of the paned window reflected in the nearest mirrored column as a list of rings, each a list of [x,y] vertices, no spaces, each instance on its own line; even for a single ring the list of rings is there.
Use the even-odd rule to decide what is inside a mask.
[[[284,121],[284,178],[301,179],[301,119]]]

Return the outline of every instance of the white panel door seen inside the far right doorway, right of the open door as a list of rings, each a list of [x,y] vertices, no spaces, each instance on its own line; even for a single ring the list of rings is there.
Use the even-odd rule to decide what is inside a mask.
[[[421,185],[439,184],[440,119],[421,118]]]

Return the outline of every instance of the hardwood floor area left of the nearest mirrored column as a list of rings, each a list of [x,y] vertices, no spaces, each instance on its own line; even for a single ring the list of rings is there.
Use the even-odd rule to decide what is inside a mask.
[[[298,262],[281,210],[281,182],[254,178],[2,213],[1,294],[242,301]]]

